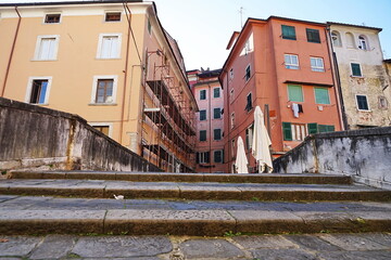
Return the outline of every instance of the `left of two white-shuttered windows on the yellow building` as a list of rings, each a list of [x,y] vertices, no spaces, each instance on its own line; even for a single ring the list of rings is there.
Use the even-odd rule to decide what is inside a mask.
[[[38,36],[35,51],[37,61],[54,61],[58,54],[60,36]]]

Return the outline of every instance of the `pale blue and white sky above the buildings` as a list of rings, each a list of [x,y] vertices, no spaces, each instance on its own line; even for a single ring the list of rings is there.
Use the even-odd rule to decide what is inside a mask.
[[[58,2],[73,0],[0,0]],[[80,1],[80,0],[78,0]],[[147,0],[144,0],[147,1]],[[270,15],[312,22],[379,27],[384,58],[391,57],[391,0],[154,0],[163,27],[179,44],[188,70],[223,67],[228,41],[248,17]],[[242,10],[242,12],[240,12]]]

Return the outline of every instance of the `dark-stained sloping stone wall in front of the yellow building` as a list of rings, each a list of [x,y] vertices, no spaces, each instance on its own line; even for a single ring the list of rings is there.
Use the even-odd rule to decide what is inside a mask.
[[[77,115],[0,98],[0,170],[161,171]]]

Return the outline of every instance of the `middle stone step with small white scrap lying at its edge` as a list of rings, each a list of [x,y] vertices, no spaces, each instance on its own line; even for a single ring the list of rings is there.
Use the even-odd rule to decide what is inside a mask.
[[[104,180],[8,179],[0,194],[91,198],[180,198],[236,200],[371,200],[390,202],[391,191],[360,185],[217,182],[129,182]]]

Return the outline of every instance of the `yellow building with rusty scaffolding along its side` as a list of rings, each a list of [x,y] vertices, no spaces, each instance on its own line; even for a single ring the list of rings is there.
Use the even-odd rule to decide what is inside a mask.
[[[184,60],[153,2],[0,4],[0,96],[77,114],[166,171],[194,168]]]

